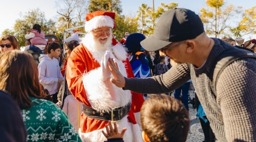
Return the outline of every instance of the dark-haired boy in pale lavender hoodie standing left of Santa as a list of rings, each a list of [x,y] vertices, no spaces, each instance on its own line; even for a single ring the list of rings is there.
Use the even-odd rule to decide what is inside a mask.
[[[61,54],[61,45],[51,42],[47,46],[47,55],[39,57],[39,82],[50,92],[53,102],[57,103],[58,86],[63,81],[63,76],[58,64],[58,56]]]

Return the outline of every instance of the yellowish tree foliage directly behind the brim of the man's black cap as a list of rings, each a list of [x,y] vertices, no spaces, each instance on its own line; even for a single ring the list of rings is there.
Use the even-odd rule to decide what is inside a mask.
[[[167,5],[161,3],[157,10],[154,11],[154,8],[148,7],[146,4],[142,4],[142,6],[139,7],[139,11],[137,11],[137,19],[139,19],[139,22],[142,25],[140,32],[142,32],[145,36],[153,34],[156,23],[160,16],[164,12],[169,11],[177,6],[178,3],[169,3]]]

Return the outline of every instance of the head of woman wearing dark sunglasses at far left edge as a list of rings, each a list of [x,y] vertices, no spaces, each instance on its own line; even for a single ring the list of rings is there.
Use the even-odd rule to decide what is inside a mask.
[[[20,50],[18,40],[13,35],[4,35],[0,38],[0,52]]]

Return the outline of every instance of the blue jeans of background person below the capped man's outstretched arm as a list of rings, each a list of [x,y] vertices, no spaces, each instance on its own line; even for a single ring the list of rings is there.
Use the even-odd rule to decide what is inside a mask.
[[[174,93],[174,97],[180,100],[180,95],[182,90],[182,102],[187,110],[189,110],[189,87],[190,87],[190,82],[186,82],[181,87],[175,89],[175,93]]]

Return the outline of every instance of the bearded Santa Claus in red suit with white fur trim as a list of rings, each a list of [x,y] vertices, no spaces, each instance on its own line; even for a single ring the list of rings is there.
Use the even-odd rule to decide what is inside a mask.
[[[103,142],[108,121],[116,121],[119,131],[126,127],[125,142],[142,142],[140,108],[142,94],[117,88],[110,82],[113,75],[107,65],[113,58],[120,72],[134,77],[126,49],[112,35],[115,13],[96,11],[86,15],[87,34],[74,48],[67,62],[67,84],[83,103],[79,135],[83,142]]]

